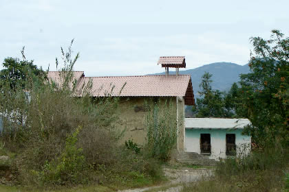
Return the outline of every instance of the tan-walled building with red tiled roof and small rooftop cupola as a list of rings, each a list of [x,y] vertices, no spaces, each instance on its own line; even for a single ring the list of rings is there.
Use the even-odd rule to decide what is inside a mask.
[[[195,105],[190,75],[178,75],[178,69],[186,67],[184,57],[160,57],[158,64],[166,69],[165,75],[137,75],[119,77],[85,77],[83,71],[74,72],[76,96],[81,96],[83,85],[92,83],[92,97],[120,97],[117,127],[126,129],[121,142],[133,140],[144,144],[146,129],[144,119],[146,101],[160,99],[172,102],[178,126],[178,149],[184,151],[184,107]],[[175,68],[176,74],[169,75],[169,68]],[[61,84],[61,72],[48,72],[50,80]]]

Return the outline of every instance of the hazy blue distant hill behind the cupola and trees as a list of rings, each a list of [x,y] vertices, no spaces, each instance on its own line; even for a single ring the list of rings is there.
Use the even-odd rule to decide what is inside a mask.
[[[205,64],[204,66],[197,67],[195,69],[180,71],[180,74],[191,75],[193,92],[195,94],[195,97],[197,97],[197,91],[200,90],[199,84],[201,82],[201,78],[204,72],[208,72],[213,75],[213,89],[228,91],[231,88],[233,82],[239,82],[239,74],[249,72],[249,67],[248,64],[239,65],[233,62],[214,62],[211,64]],[[157,73],[153,75],[158,74],[164,73]],[[170,74],[175,74],[175,71],[170,71]]]

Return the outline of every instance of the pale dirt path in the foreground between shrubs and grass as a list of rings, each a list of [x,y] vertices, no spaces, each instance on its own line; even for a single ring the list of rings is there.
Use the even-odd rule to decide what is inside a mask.
[[[164,168],[164,175],[169,178],[167,184],[156,187],[145,187],[141,189],[127,189],[118,192],[142,192],[142,191],[163,191],[163,192],[178,192],[182,191],[182,184],[187,182],[196,182],[202,177],[212,176],[212,169],[192,169],[192,168],[179,168],[170,169]],[[159,189],[159,190],[158,190]]]

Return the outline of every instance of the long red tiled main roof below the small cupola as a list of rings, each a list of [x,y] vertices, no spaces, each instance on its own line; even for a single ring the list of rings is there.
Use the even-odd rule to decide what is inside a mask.
[[[59,82],[56,72],[48,72],[48,77]],[[59,72],[58,72],[59,73]],[[193,87],[190,75],[142,75],[119,77],[78,77],[76,90],[81,96],[83,86],[92,82],[91,94],[94,97],[184,97],[186,105],[194,105]]]

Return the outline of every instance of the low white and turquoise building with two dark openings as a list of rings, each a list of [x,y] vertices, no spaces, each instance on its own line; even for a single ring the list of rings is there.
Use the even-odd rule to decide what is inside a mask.
[[[218,160],[250,152],[250,136],[242,131],[248,119],[186,118],[185,150]]]

